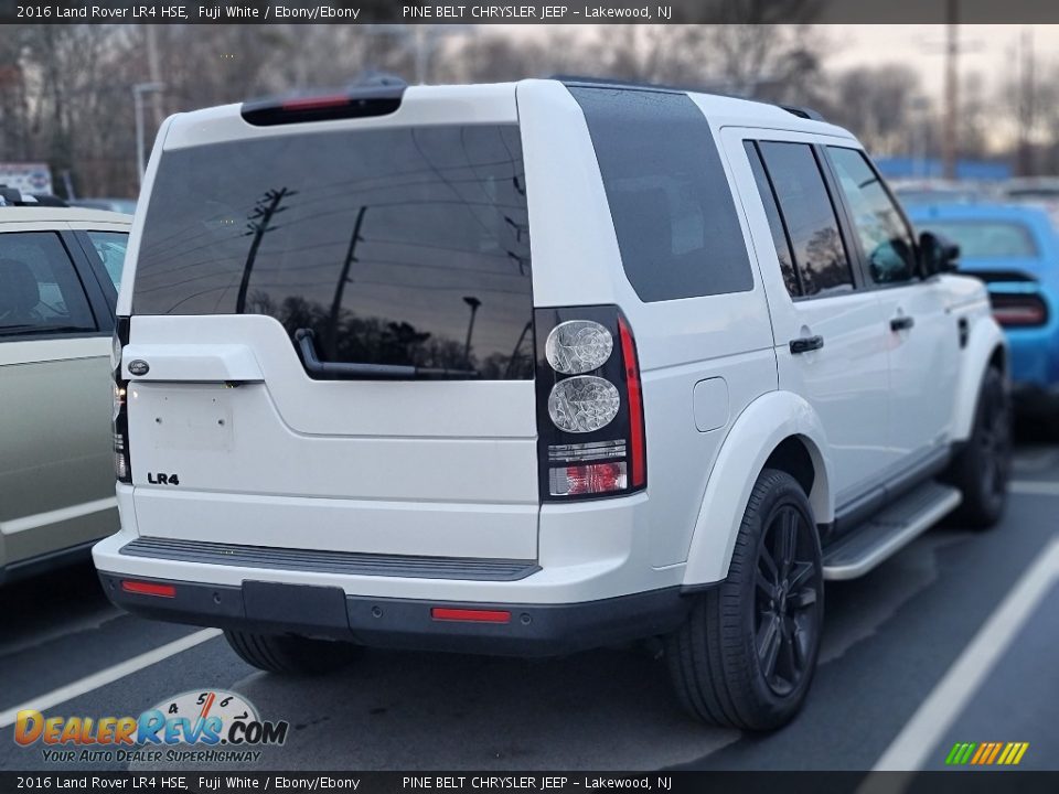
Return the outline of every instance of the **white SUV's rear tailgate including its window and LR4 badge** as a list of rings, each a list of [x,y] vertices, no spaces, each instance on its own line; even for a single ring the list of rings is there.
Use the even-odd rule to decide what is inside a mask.
[[[473,124],[467,103],[457,124],[415,89],[382,118],[257,128],[236,108],[174,122],[122,356],[141,534],[536,558],[533,294],[509,90],[479,94]],[[315,357],[340,374],[314,372]]]

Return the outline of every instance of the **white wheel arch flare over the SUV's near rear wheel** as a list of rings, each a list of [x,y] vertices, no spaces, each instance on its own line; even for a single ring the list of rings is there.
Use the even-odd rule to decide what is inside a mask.
[[[817,524],[834,519],[831,461],[823,425],[791,391],[770,391],[740,414],[714,462],[692,534],[684,586],[725,579],[750,492],[767,468],[790,473],[807,495]],[[805,471],[806,463],[811,471]]]

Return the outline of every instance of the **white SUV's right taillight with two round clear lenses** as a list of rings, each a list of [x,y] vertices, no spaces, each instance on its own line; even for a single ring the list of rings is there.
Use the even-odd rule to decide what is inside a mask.
[[[537,309],[541,498],[646,487],[643,398],[632,329],[614,305]]]

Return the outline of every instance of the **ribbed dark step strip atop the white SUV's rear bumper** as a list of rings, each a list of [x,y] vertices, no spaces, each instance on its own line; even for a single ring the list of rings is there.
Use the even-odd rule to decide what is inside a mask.
[[[517,581],[541,570],[535,560],[374,555],[160,537],[138,537],[119,554],[204,565],[414,579]]]

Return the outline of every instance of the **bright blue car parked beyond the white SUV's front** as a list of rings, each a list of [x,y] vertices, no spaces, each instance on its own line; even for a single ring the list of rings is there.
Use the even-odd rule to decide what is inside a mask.
[[[986,282],[1012,350],[1019,408],[1059,409],[1059,238],[1047,213],[1009,204],[911,205],[909,218],[960,246],[960,271]]]

